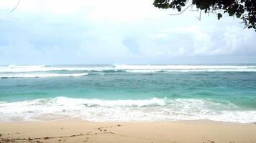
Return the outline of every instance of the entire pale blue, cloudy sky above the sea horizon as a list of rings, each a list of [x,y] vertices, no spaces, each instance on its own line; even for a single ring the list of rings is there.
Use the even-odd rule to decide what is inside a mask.
[[[256,32],[153,0],[0,0],[0,64],[256,63]],[[12,11],[12,12],[10,12]]]

